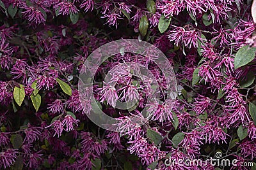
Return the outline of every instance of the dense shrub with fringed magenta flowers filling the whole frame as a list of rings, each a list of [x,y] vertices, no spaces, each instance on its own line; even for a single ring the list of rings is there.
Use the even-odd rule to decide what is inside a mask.
[[[1,169],[255,168],[242,166],[256,155],[252,1],[2,0],[0,8]],[[172,108],[150,103],[145,125],[106,131],[86,117],[92,106],[79,101],[79,71],[93,50],[125,38],[164,52],[179,92]],[[93,87],[104,113],[119,119],[140,115],[147,101],[145,82],[128,76],[115,80],[122,88],[102,88],[109,69],[127,61],[150,63],[121,52],[97,70]],[[139,103],[116,110],[117,99]],[[164,164],[216,152],[237,166]]]

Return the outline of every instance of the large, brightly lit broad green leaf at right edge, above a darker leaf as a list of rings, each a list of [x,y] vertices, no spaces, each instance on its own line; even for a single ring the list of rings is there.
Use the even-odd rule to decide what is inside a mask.
[[[234,60],[235,69],[245,66],[249,62],[251,62],[255,58],[255,50],[256,48],[246,45],[240,48]]]

